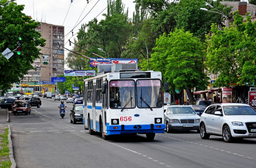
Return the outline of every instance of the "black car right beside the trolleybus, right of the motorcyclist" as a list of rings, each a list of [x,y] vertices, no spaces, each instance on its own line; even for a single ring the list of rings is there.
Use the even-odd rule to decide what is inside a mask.
[[[83,105],[75,105],[70,110],[70,123],[83,122]]]

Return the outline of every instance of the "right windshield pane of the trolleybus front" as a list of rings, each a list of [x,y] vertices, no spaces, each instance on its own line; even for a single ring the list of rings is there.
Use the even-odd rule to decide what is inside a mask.
[[[162,89],[159,79],[137,80],[138,108],[162,107]]]

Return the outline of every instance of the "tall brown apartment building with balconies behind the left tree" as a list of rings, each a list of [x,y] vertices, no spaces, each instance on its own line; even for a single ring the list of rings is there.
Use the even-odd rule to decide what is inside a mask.
[[[28,88],[33,88],[35,91],[43,89],[51,91],[53,89],[55,92],[54,85],[41,85],[40,88],[38,81],[51,81],[52,77],[64,74],[64,26],[41,22],[35,30],[41,33],[42,38],[46,39],[46,44],[44,47],[38,46],[42,55],[32,64],[36,70],[28,71],[22,84],[28,84]],[[58,43],[61,46],[58,47]]]

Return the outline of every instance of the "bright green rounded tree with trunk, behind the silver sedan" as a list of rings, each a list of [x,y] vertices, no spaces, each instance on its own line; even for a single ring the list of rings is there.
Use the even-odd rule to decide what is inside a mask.
[[[168,82],[178,90],[186,90],[192,103],[194,88],[205,89],[209,77],[203,72],[202,58],[206,45],[184,29],[176,29],[168,36],[163,34],[156,41],[150,66],[161,71]]]

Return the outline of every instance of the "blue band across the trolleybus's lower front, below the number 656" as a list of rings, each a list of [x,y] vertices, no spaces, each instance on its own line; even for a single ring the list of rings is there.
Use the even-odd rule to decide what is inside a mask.
[[[107,135],[124,134],[124,133],[165,133],[165,124],[154,124],[154,129],[151,129],[151,125],[140,125],[141,129],[134,129],[134,125],[125,125],[124,130],[121,130],[121,125],[108,125],[107,123]],[[161,126],[161,128],[156,128]],[[114,129],[118,127],[118,129]]]

